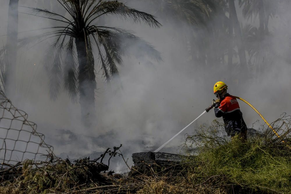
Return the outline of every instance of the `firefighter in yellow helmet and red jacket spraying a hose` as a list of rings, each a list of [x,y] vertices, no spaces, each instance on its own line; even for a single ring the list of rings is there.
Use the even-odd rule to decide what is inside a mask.
[[[214,106],[216,117],[222,117],[228,136],[239,135],[246,140],[247,127],[242,117],[237,99],[227,93],[227,85],[219,81],[214,84],[214,95],[217,97]]]

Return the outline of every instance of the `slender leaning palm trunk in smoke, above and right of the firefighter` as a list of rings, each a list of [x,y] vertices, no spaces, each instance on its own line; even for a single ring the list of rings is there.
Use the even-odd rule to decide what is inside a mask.
[[[244,43],[242,41],[242,30],[240,28],[240,24],[237,18],[237,13],[235,10],[235,2],[234,0],[229,0],[228,4],[229,4],[230,14],[233,16],[233,27],[234,27],[235,37],[237,39],[237,49],[238,49],[240,65],[242,67],[243,72],[247,73],[248,68],[247,68],[247,63],[246,63],[246,51],[244,48]]]

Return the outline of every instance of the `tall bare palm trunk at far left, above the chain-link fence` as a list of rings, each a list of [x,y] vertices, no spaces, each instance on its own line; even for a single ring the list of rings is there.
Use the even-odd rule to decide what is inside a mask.
[[[8,95],[15,95],[15,68],[17,63],[17,34],[18,34],[18,1],[10,0],[8,9],[8,25],[7,25],[7,52],[6,52],[6,80],[5,90]]]

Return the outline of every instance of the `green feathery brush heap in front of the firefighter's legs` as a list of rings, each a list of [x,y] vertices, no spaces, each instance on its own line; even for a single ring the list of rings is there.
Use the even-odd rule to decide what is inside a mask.
[[[206,129],[201,127],[197,135],[188,136],[185,148],[203,161],[193,168],[189,181],[219,186],[231,192],[291,193],[291,129],[290,116],[274,122],[274,129],[281,138],[265,129],[260,136],[243,142],[218,134],[222,125],[215,121]],[[285,143],[282,142],[285,141]]]

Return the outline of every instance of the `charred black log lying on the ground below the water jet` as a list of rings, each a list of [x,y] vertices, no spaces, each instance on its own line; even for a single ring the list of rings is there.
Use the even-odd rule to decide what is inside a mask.
[[[132,166],[129,176],[135,176],[140,174],[152,173],[151,170],[155,172],[168,172],[173,170],[173,168],[178,172],[181,170],[179,164],[185,158],[189,156],[182,156],[179,154],[170,154],[163,152],[138,152],[132,154],[132,161],[134,166]]]

